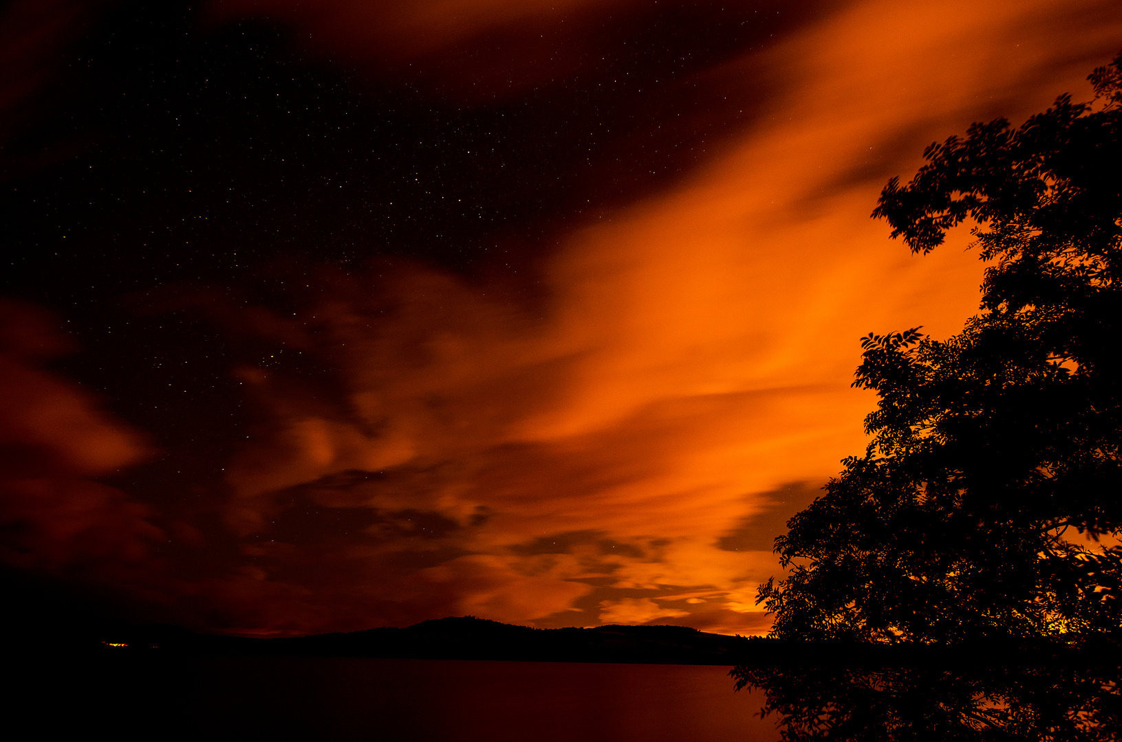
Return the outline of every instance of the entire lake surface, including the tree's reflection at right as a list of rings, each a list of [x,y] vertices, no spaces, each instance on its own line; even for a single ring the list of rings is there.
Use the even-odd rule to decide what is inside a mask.
[[[798,739],[1122,740],[1119,667],[746,670]],[[4,657],[18,739],[774,742],[727,667],[116,650]],[[980,732],[980,724],[987,732]],[[0,726],[0,729],[4,729]],[[7,729],[4,730],[7,731]],[[824,736],[825,735],[825,736]],[[17,738],[13,738],[17,739]]]

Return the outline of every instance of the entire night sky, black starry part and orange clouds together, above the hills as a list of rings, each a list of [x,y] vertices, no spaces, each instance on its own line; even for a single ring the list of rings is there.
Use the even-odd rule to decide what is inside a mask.
[[[766,631],[870,331],[963,248],[868,219],[1122,48],[1097,0],[16,0],[0,560],[245,634]]]

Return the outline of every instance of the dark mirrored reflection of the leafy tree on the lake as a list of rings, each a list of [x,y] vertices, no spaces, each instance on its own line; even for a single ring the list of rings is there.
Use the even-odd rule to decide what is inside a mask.
[[[781,739],[1120,740],[1119,667],[736,667]]]

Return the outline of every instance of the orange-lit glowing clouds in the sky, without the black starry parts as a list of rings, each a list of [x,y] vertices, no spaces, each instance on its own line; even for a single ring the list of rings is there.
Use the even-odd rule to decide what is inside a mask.
[[[339,2],[311,18],[227,3],[306,24],[321,47],[352,56],[392,35],[408,58],[495,26],[549,25],[554,7]],[[360,8],[376,9],[376,28]],[[872,399],[849,388],[858,338],[916,325],[945,337],[976,310],[968,234],[910,256],[868,219],[880,188],[975,120],[1019,122],[1060,92],[1089,98],[1085,75],[1120,39],[1107,2],[849,3],[755,53],[752,68],[785,90],[705,167],[573,224],[544,306],[398,267],[309,279],[330,298],[294,317],[232,318],[342,369],[349,408],[319,402],[283,368],[236,370],[266,415],[227,469],[224,519],[260,566],[168,591],[220,606],[245,632],[445,614],[766,630],[754,596],[778,574],[761,548],[778,535],[767,513],[789,516],[864,448]],[[712,74],[735,87],[747,62]],[[77,462],[67,476],[142,455],[142,433],[67,382],[27,363],[13,373],[9,383],[40,391],[4,435],[54,436]],[[277,493],[296,490],[341,513],[426,513],[394,528],[433,532],[395,538],[383,525],[376,545],[286,542],[270,523]],[[781,503],[784,492],[794,500]],[[753,548],[730,550],[741,542]],[[388,604],[407,607],[370,619]]]

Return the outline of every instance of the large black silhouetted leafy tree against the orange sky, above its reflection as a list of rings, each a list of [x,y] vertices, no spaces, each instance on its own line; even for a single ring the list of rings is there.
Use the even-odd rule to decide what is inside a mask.
[[[1013,130],[931,145],[873,215],[927,253],[973,219],[982,313],[946,342],[870,334],[864,456],[775,541],[773,636],[944,642],[1122,627],[1122,54]]]

